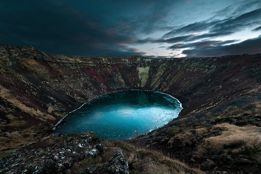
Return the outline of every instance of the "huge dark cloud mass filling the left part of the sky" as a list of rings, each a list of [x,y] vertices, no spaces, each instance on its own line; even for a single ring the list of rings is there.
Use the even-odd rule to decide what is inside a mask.
[[[52,54],[141,55],[145,52],[128,44],[143,34],[173,29],[165,19],[172,4],[172,1],[1,1],[1,43],[30,45]],[[123,7],[128,8],[124,11]]]

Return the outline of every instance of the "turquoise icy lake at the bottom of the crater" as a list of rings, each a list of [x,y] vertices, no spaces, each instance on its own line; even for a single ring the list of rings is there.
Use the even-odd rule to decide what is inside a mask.
[[[161,92],[117,91],[96,97],[69,113],[55,133],[94,131],[104,140],[127,139],[167,124],[178,117],[181,109],[176,98]]]

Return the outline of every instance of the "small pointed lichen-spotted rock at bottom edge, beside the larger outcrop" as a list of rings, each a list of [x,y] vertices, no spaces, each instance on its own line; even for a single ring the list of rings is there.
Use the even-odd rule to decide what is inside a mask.
[[[102,166],[86,167],[80,174],[127,174],[129,170],[128,162],[120,150],[115,151],[111,159]]]

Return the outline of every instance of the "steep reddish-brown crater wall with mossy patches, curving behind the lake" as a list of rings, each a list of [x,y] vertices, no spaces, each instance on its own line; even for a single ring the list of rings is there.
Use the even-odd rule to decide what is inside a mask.
[[[173,95],[184,108],[180,116],[207,111],[234,97],[260,93],[260,65],[260,54],[173,59],[88,57],[1,44],[0,135],[5,142],[19,136],[33,138],[38,135],[36,130],[32,135],[15,131],[39,124],[50,124],[50,129],[91,98],[124,89]]]

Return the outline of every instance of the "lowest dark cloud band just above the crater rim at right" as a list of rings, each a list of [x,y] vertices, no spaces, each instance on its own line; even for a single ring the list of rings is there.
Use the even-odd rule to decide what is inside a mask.
[[[207,41],[206,41],[207,42]],[[256,54],[261,52],[261,37],[248,39],[240,43],[223,45],[222,42],[211,43],[201,47],[195,45],[193,49],[183,50],[186,57],[215,57],[224,55]],[[204,45],[204,44],[203,44]]]

